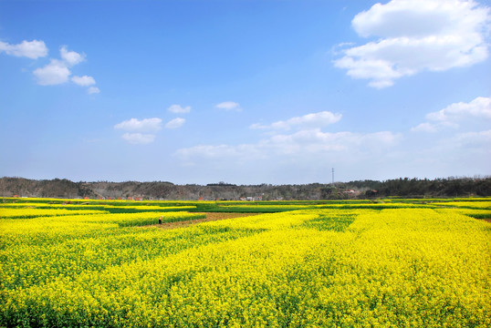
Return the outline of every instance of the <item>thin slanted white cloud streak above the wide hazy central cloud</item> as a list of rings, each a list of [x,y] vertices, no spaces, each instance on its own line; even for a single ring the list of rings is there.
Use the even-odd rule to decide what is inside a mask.
[[[255,129],[283,129],[290,128],[322,128],[329,124],[340,121],[341,114],[333,114],[329,111],[321,111],[319,113],[311,113],[297,118],[289,118],[286,121],[277,121],[271,125],[253,124],[250,128]]]

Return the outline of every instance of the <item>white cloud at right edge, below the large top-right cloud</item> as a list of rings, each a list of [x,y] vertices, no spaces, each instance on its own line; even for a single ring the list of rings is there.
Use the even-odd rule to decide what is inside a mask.
[[[454,103],[442,110],[427,114],[426,119],[429,122],[423,122],[412,128],[412,131],[437,132],[443,128],[459,128],[466,122],[489,122],[491,97],[476,97],[469,103]]]

